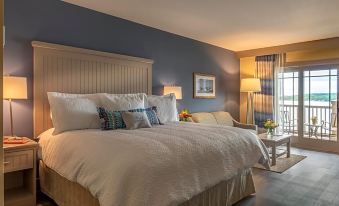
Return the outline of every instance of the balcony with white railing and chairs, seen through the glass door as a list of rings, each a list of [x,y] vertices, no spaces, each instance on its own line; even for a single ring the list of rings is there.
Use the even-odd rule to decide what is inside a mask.
[[[337,141],[337,102],[331,106],[304,106],[303,137],[324,141]],[[281,129],[284,132],[298,135],[298,105],[280,105]],[[317,117],[317,122],[311,118]]]

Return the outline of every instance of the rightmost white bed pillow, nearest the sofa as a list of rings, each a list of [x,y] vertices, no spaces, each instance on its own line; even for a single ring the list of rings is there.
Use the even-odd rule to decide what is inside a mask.
[[[174,94],[164,96],[147,96],[148,106],[157,107],[157,115],[161,123],[178,121],[177,102]]]

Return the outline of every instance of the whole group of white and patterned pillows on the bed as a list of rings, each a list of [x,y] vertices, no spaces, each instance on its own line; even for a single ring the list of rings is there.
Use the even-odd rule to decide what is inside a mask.
[[[174,95],[48,92],[54,133],[80,129],[137,129],[178,121]],[[100,122],[101,120],[101,122]]]

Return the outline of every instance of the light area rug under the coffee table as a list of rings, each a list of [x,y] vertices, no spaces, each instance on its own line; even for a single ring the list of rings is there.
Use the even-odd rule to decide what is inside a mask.
[[[296,155],[296,154],[291,154],[290,158],[287,158],[286,156],[279,157],[277,159],[277,164],[274,165],[274,166],[271,166],[269,171],[277,172],[277,173],[283,173],[305,158],[306,158],[306,156]],[[263,169],[263,170],[268,170],[268,169],[264,168],[262,165],[259,165],[259,164],[254,165],[254,167],[259,168],[259,169]]]

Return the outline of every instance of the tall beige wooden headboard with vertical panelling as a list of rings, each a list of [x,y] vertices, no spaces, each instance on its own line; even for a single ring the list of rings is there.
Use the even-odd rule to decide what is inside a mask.
[[[51,128],[47,92],[152,94],[153,60],[33,41],[34,137]]]

